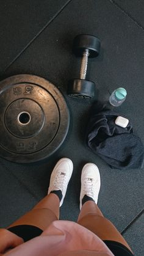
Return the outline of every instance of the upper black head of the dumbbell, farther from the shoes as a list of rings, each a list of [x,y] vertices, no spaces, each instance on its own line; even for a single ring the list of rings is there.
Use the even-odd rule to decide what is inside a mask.
[[[73,52],[76,56],[82,56],[85,49],[89,50],[88,57],[97,57],[100,51],[101,42],[94,35],[77,35],[73,42]]]

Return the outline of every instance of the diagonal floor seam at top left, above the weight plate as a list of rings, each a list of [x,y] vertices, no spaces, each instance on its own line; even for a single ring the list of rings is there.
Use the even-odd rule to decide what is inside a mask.
[[[16,59],[18,59],[18,57],[21,56],[21,54],[24,53],[24,51],[26,51],[27,48],[29,48],[29,46],[39,37],[39,35],[45,31],[46,27],[49,26],[50,23],[52,23],[52,21],[55,20],[55,18],[57,18],[57,16],[60,14],[60,12],[63,11],[63,9],[65,9],[65,7],[67,7],[67,5],[71,2],[72,0],[67,1],[67,3],[65,5],[63,5],[63,7],[51,18],[50,21],[48,21],[48,23],[45,24],[45,26],[37,33],[37,35],[35,35],[35,37],[32,38],[32,40],[29,41],[29,43],[27,43],[27,45],[20,51],[20,53],[18,55],[16,55],[16,57],[10,62],[9,65],[7,65],[7,67],[5,67],[4,72],[15,62]]]

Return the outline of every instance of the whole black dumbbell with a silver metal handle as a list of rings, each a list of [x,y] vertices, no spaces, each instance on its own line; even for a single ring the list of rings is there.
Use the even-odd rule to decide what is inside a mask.
[[[94,35],[77,35],[73,42],[73,52],[82,57],[80,78],[69,81],[68,96],[74,98],[95,97],[95,82],[86,80],[88,57],[99,55],[101,43]]]

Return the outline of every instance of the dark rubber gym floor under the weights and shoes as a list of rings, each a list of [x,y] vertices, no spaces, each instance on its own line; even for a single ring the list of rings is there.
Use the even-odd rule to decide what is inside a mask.
[[[74,172],[60,218],[76,221],[81,169],[93,162],[101,173],[99,207],[135,255],[144,255],[143,170],[110,169],[90,152],[84,136],[93,101],[67,96],[68,80],[79,75],[80,59],[71,52],[73,38],[96,35],[101,53],[88,62],[88,78],[96,82],[99,100],[108,98],[117,87],[126,88],[128,97],[118,111],[131,120],[144,144],[143,0],[1,0],[0,17],[1,79],[20,73],[42,76],[62,91],[71,112],[67,139],[51,158],[25,165],[0,159],[1,227],[46,195],[51,171],[64,156],[72,159]]]

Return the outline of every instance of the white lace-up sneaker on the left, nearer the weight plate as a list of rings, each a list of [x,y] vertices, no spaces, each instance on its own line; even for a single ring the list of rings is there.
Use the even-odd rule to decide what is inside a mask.
[[[65,198],[68,182],[70,181],[72,172],[73,162],[69,158],[60,159],[54,167],[54,170],[52,171],[48,194],[54,190],[62,191],[62,200],[60,201],[60,207],[63,203],[63,199]]]

